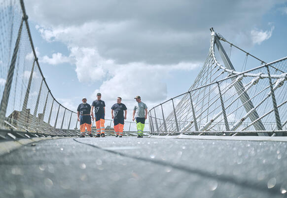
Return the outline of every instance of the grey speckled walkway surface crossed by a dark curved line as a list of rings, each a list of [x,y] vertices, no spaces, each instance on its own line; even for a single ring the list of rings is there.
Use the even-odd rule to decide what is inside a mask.
[[[270,198],[287,191],[287,143],[62,138],[0,158],[1,198]]]

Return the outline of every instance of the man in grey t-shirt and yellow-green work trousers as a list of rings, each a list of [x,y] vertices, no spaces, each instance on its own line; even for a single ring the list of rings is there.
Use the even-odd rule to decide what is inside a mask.
[[[144,135],[144,121],[147,118],[147,106],[141,101],[140,96],[135,98],[137,103],[134,106],[133,121],[137,122],[138,137],[143,137]]]

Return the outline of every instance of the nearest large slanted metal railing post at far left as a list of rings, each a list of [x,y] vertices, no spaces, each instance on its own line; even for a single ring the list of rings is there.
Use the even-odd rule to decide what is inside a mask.
[[[8,103],[9,96],[10,96],[10,90],[11,90],[11,86],[12,86],[15,64],[16,64],[16,59],[17,59],[17,54],[18,54],[18,49],[19,49],[19,43],[20,43],[20,39],[21,39],[23,22],[24,22],[24,20],[26,21],[27,19],[28,19],[27,15],[22,17],[21,25],[19,27],[17,40],[15,43],[15,47],[14,47],[14,51],[13,51],[13,55],[12,55],[11,64],[10,64],[10,67],[8,70],[5,88],[4,88],[1,103],[0,103],[0,126],[3,126],[3,124],[4,124],[4,120],[5,120],[5,116],[6,116],[6,110],[7,110],[7,103]]]

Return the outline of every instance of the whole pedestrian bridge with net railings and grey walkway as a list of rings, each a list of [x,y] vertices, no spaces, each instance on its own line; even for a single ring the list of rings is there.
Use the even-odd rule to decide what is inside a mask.
[[[265,63],[211,28],[195,82],[149,110],[146,138],[134,122],[115,138],[111,120],[105,138],[78,138],[76,112],[41,71],[23,0],[0,10],[0,197],[286,196],[287,57]]]

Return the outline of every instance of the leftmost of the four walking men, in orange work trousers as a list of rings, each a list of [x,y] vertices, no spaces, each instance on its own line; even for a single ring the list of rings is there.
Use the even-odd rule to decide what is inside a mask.
[[[82,99],[82,103],[79,104],[77,108],[78,121],[80,122],[80,137],[85,137],[85,130],[87,128],[88,134],[92,137],[92,126],[91,126],[91,116],[89,112],[91,111],[91,105],[87,103],[87,98]],[[94,119],[94,117],[93,117]]]

